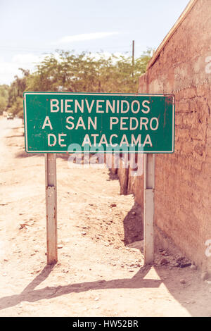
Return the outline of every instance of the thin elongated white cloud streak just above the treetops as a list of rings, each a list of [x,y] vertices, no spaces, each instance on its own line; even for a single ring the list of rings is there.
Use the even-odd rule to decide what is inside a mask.
[[[82,33],[81,35],[65,36],[53,44],[68,44],[71,42],[84,42],[87,40],[102,39],[105,37],[118,35],[119,32],[94,32],[94,33]]]

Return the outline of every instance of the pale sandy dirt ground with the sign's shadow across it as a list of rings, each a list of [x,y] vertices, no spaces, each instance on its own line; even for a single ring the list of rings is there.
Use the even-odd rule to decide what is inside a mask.
[[[44,156],[25,153],[21,124],[0,118],[0,316],[211,316],[200,270],[167,251],[143,266],[139,208],[106,166],[58,157],[58,263],[46,265]]]

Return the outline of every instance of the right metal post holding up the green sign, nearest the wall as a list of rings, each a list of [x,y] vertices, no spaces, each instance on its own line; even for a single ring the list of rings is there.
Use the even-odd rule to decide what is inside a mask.
[[[143,257],[145,265],[154,262],[154,189],[155,154],[144,154]]]

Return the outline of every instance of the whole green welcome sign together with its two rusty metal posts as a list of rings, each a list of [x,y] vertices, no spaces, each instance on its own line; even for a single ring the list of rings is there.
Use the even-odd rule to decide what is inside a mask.
[[[144,155],[144,263],[153,263],[155,154],[174,153],[174,95],[24,92],[25,150],[45,154],[47,263],[58,261],[56,153]]]

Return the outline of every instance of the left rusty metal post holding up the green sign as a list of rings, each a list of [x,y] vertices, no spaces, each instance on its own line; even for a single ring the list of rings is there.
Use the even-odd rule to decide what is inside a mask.
[[[45,154],[47,263],[55,264],[57,255],[56,154]]]

